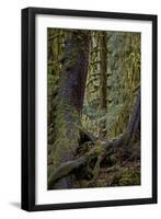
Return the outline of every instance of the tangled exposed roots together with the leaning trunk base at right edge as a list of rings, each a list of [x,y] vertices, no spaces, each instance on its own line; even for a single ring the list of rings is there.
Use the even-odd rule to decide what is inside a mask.
[[[97,181],[97,177],[101,174],[101,169],[103,163],[108,160],[111,164],[108,164],[110,171],[111,169],[115,169],[118,166],[119,170],[124,170],[124,166],[135,160],[139,163],[140,160],[140,147],[139,141],[136,141],[136,132],[140,128],[140,93],[138,93],[138,97],[136,101],[136,105],[134,107],[134,112],[127,125],[127,129],[123,135],[118,136],[116,139],[110,141],[103,138],[95,138],[92,135],[85,132],[83,128],[80,129],[80,146],[78,147],[78,151],[76,157],[72,160],[66,161],[61,163],[56,170],[51,170],[48,177],[48,187],[55,188],[55,184],[60,180],[73,174],[76,175],[76,180],[81,181],[85,178],[87,175],[91,175],[91,178],[87,181],[87,187],[93,187]],[[107,166],[107,164],[106,164]],[[79,171],[80,170],[80,171]],[[83,170],[83,174],[81,175],[81,170]],[[78,174],[74,173],[79,172]],[[120,178],[120,173],[125,175],[123,182],[127,180],[124,171],[116,171],[115,178],[112,178],[108,184],[114,184],[115,181]]]

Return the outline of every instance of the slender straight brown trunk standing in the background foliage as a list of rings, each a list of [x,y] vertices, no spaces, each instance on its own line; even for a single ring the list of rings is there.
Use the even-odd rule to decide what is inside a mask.
[[[106,33],[100,33],[100,108],[106,113],[106,69],[107,69],[107,48],[106,48]],[[101,125],[100,135],[106,135],[106,120],[104,119]]]

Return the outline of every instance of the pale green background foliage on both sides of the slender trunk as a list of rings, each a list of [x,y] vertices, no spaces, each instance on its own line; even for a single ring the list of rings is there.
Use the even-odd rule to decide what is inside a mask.
[[[140,33],[106,32],[106,110],[100,108],[100,32],[91,33],[89,74],[85,88],[83,126],[100,136],[105,122],[106,137],[124,131],[140,87]]]

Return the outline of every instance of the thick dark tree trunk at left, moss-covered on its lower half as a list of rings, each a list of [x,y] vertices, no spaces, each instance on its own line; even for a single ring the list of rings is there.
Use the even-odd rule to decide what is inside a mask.
[[[53,184],[53,172],[62,163],[72,160],[80,142],[81,113],[89,65],[89,34],[70,32],[61,59],[62,71],[56,101],[54,145],[50,149],[51,164],[48,168],[48,188],[72,187],[72,176]]]

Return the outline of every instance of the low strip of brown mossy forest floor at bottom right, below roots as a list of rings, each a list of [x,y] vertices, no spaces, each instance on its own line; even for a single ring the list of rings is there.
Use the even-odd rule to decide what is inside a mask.
[[[93,182],[81,180],[74,184],[74,188],[84,187],[114,187],[140,185],[140,162],[127,162],[124,165],[101,168],[97,178]]]

